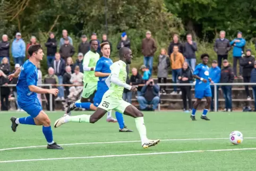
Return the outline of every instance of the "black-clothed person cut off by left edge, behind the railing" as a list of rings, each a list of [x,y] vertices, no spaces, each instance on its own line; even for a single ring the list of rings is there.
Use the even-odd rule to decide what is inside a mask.
[[[9,109],[9,95],[10,95],[10,88],[7,87],[9,80],[7,76],[0,71],[0,86],[1,87],[1,110],[8,110]]]

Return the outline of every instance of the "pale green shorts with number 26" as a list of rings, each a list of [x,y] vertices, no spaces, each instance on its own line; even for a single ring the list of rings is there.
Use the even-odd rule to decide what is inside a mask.
[[[120,100],[108,95],[104,95],[98,107],[107,111],[115,110],[116,112],[123,114],[126,107],[130,105],[131,104],[129,102],[124,101],[123,99]]]

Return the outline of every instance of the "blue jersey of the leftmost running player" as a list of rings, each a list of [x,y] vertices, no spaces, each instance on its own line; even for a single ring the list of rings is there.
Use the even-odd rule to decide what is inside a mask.
[[[31,92],[29,86],[37,86],[38,70],[36,65],[29,60],[21,66],[21,72],[17,83],[17,93],[19,104],[28,104],[28,102],[35,102],[37,93]]]

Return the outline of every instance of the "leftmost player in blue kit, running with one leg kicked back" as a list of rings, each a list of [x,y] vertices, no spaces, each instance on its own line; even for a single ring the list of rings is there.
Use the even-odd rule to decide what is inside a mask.
[[[57,96],[58,89],[42,89],[37,87],[37,64],[42,60],[44,53],[41,45],[31,45],[28,49],[30,58],[15,71],[15,73],[8,76],[10,80],[19,76],[17,83],[18,104],[30,116],[16,118],[11,117],[12,131],[16,132],[19,124],[27,125],[42,125],[42,132],[47,141],[47,149],[63,149],[53,141],[53,132],[50,126],[50,119],[42,110],[42,106],[37,98],[37,93],[49,93]]]

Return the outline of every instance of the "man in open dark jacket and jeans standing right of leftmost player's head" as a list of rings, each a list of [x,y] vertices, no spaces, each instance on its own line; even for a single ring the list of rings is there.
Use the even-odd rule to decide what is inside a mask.
[[[65,61],[61,58],[59,53],[55,54],[55,60],[52,63],[52,67],[54,69],[54,74],[57,75],[58,83],[63,84],[63,75],[65,73]],[[64,88],[63,86],[58,86],[58,97],[56,100],[64,100]]]

